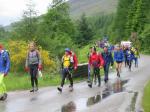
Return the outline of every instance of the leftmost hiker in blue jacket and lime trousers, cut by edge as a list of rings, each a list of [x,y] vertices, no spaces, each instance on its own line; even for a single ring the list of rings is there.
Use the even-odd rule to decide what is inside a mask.
[[[8,51],[4,50],[2,44],[0,44],[0,100],[6,100],[6,86],[4,84],[4,77],[8,75],[10,69],[10,58]]]

